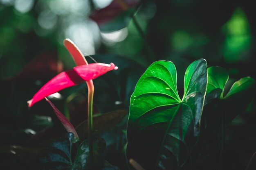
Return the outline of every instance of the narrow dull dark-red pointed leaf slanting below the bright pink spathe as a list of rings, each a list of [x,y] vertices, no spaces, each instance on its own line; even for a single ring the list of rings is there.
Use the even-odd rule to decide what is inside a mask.
[[[45,99],[52,106],[52,109],[55,112],[58,120],[61,121],[61,123],[63,124],[63,126],[67,130],[67,132],[74,133],[73,143],[79,141],[79,137],[76,133],[76,130],[74,129],[74,126],[70,123],[70,121],[67,120],[67,118],[54,106],[54,104],[52,104],[52,102],[50,100],[48,100],[47,98],[45,98]]]

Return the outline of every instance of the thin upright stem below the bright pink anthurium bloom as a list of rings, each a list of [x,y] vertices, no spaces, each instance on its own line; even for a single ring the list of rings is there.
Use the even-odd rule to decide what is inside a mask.
[[[94,169],[93,163],[93,144],[92,144],[92,102],[94,94],[94,85],[92,80],[86,81],[88,87],[88,142],[89,142],[89,159],[90,169]]]

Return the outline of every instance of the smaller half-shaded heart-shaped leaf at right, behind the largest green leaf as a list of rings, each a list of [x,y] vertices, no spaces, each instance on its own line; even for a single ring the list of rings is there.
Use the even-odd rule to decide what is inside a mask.
[[[212,122],[209,124],[210,126],[211,124],[215,126],[218,124],[218,121],[220,121],[213,118],[218,117],[216,115],[217,113],[223,113],[224,125],[229,124],[238,114],[245,111],[254,97],[256,81],[251,77],[244,77],[236,81],[227,95],[223,96],[228,78],[229,75],[224,68],[217,66],[208,68],[207,100],[205,101],[205,105],[208,104],[210,100],[218,98],[213,103],[213,106],[207,109],[207,120],[208,122]],[[212,107],[214,107],[214,109]],[[213,129],[216,129],[216,127]]]

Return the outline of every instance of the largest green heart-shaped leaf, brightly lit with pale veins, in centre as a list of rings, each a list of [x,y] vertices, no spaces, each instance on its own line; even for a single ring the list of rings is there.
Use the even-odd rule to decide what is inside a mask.
[[[176,75],[171,61],[151,64],[130,100],[127,157],[146,169],[182,166],[200,133],[207,63],[199,59],[189,65],[182,100],[177,93]]]

